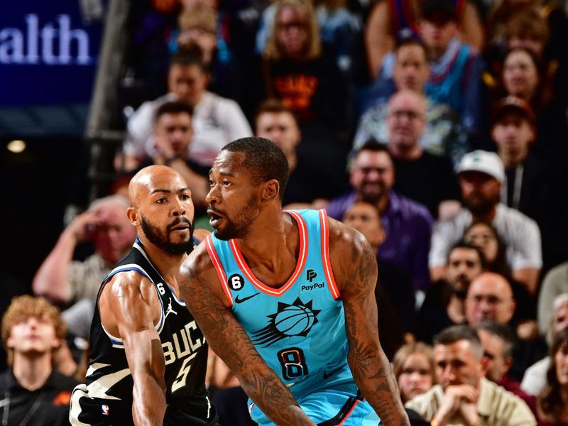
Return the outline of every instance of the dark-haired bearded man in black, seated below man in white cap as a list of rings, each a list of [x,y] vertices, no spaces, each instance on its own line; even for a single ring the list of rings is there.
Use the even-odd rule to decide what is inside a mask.
[[[418,312],[418,340],[431,344],[442,329],[466,322],[465,299],[469,284],[485,269],[484,255],[477,247],[459,241],[450,249],[444,279],[426,290]]]

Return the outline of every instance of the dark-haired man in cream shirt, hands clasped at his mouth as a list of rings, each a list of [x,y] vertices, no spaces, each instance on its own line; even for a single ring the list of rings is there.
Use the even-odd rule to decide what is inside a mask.
[[[438,383],[405,404],[431,425],[534,426],[526,403],[488,381],[484,349],[474,330],[456,325],[434,344]]]

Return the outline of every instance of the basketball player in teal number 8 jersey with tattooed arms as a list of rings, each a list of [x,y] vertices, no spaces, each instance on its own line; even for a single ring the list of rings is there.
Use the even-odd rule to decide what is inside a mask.
[[[283,212],[287,179],[268,139],[222,149],[214,236],[182,264],[182,296],[259,425],[408,425],[378,342],[373,251],[323,210]]]

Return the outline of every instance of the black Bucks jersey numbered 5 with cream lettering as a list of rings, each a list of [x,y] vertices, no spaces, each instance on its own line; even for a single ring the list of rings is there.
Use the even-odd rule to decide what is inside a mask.
[[[193,415],[204,420],[195,424],[207,424],[209,415],[212,415],[212,408],[204,387],[207,343],[203,333],[185,307],[185,302],[176,297],[153,267],[138,239],[130,253],[117,263],[104,279],[99,296],[105,283],[117,273],[125,271],[137,271],[151,280],[162,305],[160,321],[155,329],[160,336],[165,358],[168,404],[166,417],[170,410],[182,405],[187,406],[189,403]],[[77,395],[77,404],[75,400],[72,401],[71,418],[77,416],[75,418],[85,422],[87,418],[82,418],[82,414],[89,412],[89,422],[93,422],[94,413],[99,413],[103,422],[106,422],[105,416],[107,420],[113,419],[111,424],[118,424],[118,420],[124,422],[127,418],[131,419],[133,378],[126,361],[124,344],[120,337],[113,336],[104,329],[98,303],[91,324],[90,341],[91,361],[85,384],[81,389],[76,388],[80,398]]]

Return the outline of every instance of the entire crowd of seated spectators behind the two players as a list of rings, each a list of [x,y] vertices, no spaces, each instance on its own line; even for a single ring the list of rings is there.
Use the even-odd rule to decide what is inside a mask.
[[[253,134],[288,158],[285,208],[326,208],[375,251],[379,334],[411,418],[568,424],[567,1],[136,7],[128,72],[144,89],[122,99],[116,181],[45,253],[35,298],[1,312],[3,424],[66,423],[99,283],[135,238],[129,178],[178,170],[207,228],[212,161]],[[214,364],[219,405],[249,424]]]

